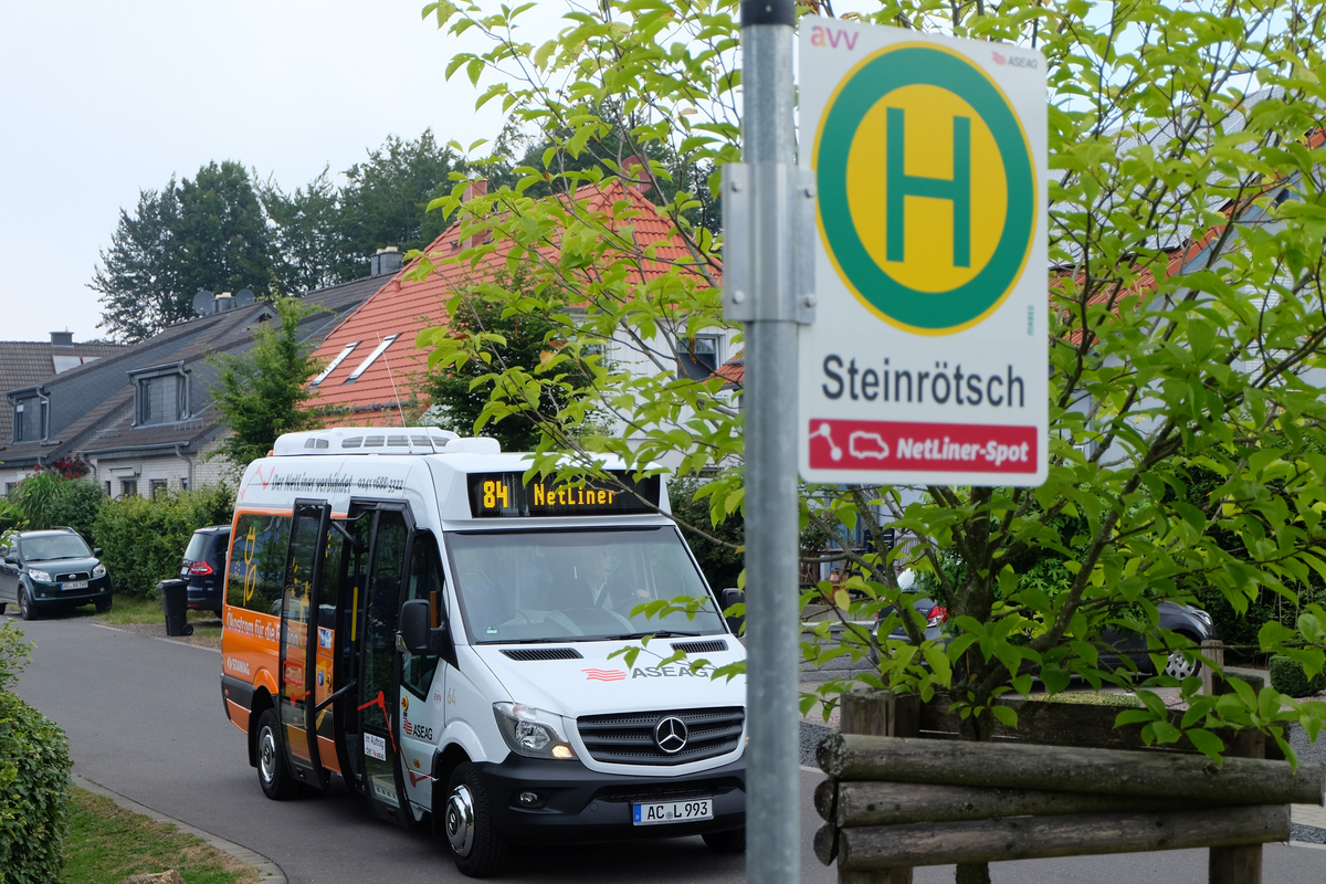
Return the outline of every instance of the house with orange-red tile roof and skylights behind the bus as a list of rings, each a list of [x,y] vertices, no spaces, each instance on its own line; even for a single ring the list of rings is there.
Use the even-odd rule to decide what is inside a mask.
[[[479,188],[477,191],[475,188]],[[484,182],[467,191],[483,195]],[[548,199],[568,199],[565,196]],[[577,204],[583,212],[599,217],[626,215],[635,244],[651,249],[654,261],[640,261],[635,273],[642,281],[658,278],[670,272],[672,262],[690,262],[691,253],[676,235],[671,220],[643,193],[642,188],[614,179],[602,187],[583,184],[575,191]],[[457,292],[467,290],[507,270],[511,245],[497,241],[496,248],[476,262],[447,262],[471,241],[460,239],[461,221],[456,221],[426,250],[435,270],[418,278],[420,260],[410,262],[396,273],[358,310],[350,314],[318,349],[316,357],[326,362],[326,371],[313,380],[318,396],[310,407],[325,414],[328,427],[400,427],[430,406],[420,392],[427,372],[428,354],[415,339],[428,327],[446,325],[446,301]],[[538,257],[556,262],[558,249],[548,244]],[[697,334],[693,353],[678,359],[678,371],[684,376],[707,378],[732,355],[732,331],[705,330]],[[630,347],[606,345],[605,357],[618,366],[639,363],[640,371],[658,372],[658,366],[633,353]]]

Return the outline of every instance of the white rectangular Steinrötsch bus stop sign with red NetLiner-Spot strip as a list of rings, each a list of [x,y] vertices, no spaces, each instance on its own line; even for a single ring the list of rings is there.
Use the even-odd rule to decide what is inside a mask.
[[[800,21],[817,318],[801,474],[1040,485],[1048,464],[1045,60]]]

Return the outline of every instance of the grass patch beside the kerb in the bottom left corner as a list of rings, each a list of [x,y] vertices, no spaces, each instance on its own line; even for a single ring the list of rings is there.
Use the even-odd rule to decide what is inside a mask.
[[[257,869],[195,835],[69,787],[64,884],[119,884],[174,868],[188,884],[257,884]]]

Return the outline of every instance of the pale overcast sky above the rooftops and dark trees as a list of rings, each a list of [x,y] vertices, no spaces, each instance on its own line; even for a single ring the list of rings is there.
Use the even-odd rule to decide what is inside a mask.
[[[98,253],[121,207],[171,175],[232,159],[293,190],[325,166],[349,168],[387,135],[411,139],[431,126],[443,142],[495,137],[499,102],[476,113],[463,74],[444,82],[460,44],[423,21],[422,7],[4,4],[0,339],[66,329],[74,341],[102,337],[88,289]]]

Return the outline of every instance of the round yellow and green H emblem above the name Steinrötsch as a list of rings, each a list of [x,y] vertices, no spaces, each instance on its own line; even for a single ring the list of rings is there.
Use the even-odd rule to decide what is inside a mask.
[[[879,318],[951,334],[1013,290],[1036,236],[1032,151],[964,56],[904,42],[865,58],[829,98],[814,163],[829,258]]]

